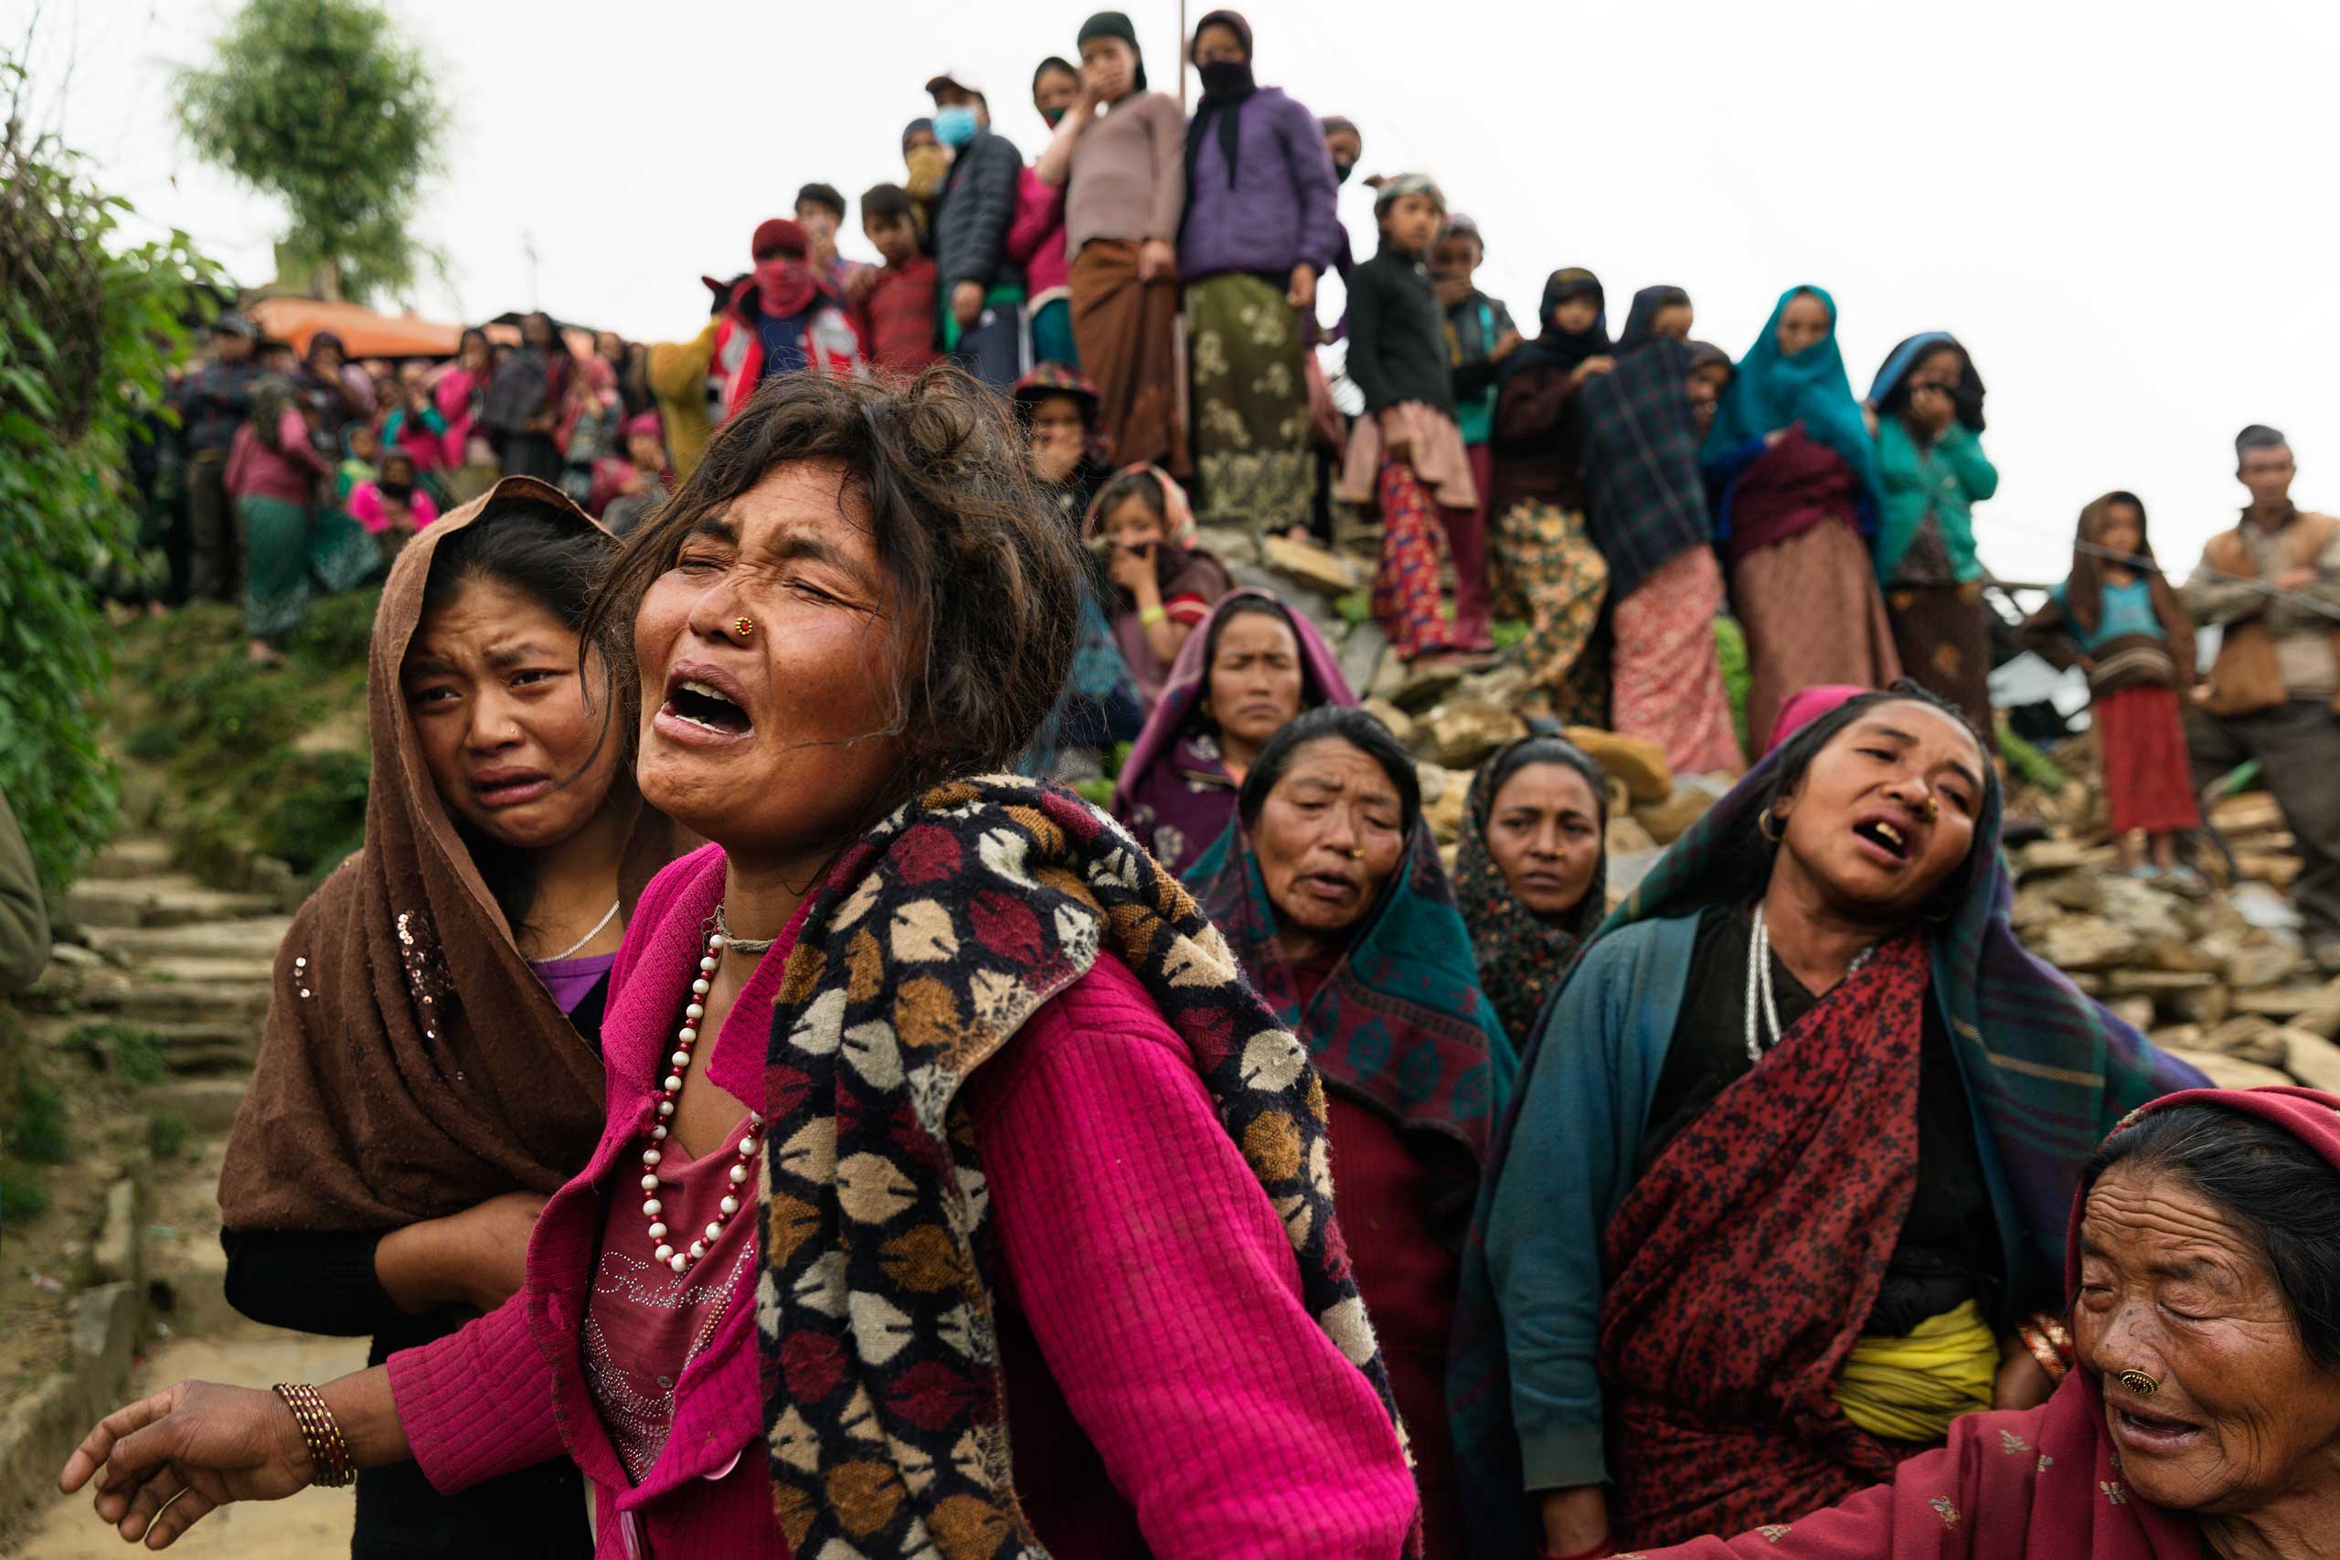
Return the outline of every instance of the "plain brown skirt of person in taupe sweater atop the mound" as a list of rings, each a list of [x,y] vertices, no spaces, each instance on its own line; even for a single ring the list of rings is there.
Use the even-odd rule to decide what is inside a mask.
[[[1191,477],[1177,384],[1177,274],[1137,281],[1137,246],[1090,239],[1072,262],[1072,339],[1097,386],[1097,433],[1116,465]]]

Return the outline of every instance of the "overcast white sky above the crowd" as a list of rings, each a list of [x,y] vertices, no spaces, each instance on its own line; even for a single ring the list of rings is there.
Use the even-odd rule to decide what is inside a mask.
[[[899,131],[952,68],[1025,152],[1032,65],[1072,54],[1088,0],[388,0],[454,110],[421,236],[435,318],[541,304],[629,337],[697,330],[697,276],[821,178],[901,178]],[[220,0],[47,0],[49,124],[110,189],[192,232],[243,283],[281,213],[204,168],[166,73]],[[1177,7],[1126,5],[1175,91]],[[1193,5],[1193,16],[1207,7]],[[28,0],[0,0],[0,37]],[[1254,0],[1257,73],[1364,129],[1364,171],[1423,168],[1488,234],[1481,285],[1521,316],[1594,267],[1610,323],[1633,288],[1689,288],[1739,356],[1799,281],[1842,306],[1867,393],[1905,334],[1952,330],[1991,388],[2003,578],[2062,578],[2080,505],[2136,489],[2183,571],[2242,503],[2232,435],[2300,454],[2300,503],[2340,505],[2317,344],[2340,332],[2331,61],[2340,7],[1973,0]],[[1659,21],[1661,16],[1661,21]],[[70,65],[70,82],[66,68]],[[1341,215],[1371,250],[1371,196]],[[536,264],[526,260],[534,246]],[[849,253],[868,255],[859,213]]]

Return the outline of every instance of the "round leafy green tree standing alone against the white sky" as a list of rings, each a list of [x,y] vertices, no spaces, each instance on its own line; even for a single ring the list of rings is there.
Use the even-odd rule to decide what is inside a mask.
[[[288,281],[365,302],[414,283],[414,196],[440,166],[421,54],[370,0],[246,0],[176,77],[197,157],[283,199]]]

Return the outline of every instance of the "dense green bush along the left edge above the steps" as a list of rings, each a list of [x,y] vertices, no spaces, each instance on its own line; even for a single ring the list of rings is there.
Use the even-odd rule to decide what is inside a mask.
[[[0,89],[23,68],[0,56]],[[54,136],[0,129],[0,791],[63,891],[112,835],[115,769],[91,699],[112,629],[94,580],[138,543],[131,440],[215,278],[187,234],[124,246],[129,206]]]

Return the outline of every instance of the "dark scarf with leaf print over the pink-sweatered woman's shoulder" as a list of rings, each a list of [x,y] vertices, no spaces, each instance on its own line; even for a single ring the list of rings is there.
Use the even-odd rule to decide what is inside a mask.
[[[1390,1403],[1308,1052],[1119,823],[1027,779],[945,781],[835,863],[772,1006],[756,1321],[793,1553],[1044,1555],[1009,1476],[987,1197],[957,1097],[1102,950],[1186,1043],[1282,1214],[1308,1312]]]

